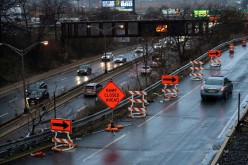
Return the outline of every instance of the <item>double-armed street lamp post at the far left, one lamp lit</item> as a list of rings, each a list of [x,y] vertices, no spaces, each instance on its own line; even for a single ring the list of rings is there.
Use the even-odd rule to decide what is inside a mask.
[[[35,45],[37,44],[44,44],[47,45],[48,41],[42,41],[42,42],[37,42],[26,49],[17,49],[16,47],[6,44],[6,43],[0,43],[0,46],[5,45],[12,50],[14,50],[17,54],[19,54],[22,58],[22,83],[23,83],[23,96],[24,96],[24,113],[27,113],[28,108],[27,108],[27,97],[26,97],[26,84],[25,84],[25,72],[24,72],[24,55],[27,54]]]

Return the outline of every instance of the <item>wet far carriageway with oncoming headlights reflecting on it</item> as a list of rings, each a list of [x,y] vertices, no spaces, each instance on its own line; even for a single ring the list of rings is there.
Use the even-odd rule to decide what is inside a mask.
[[[134,54],[134,50],[126,50],[114,54],[114,56],[125,55],[127,61],[132,61],[134,58],[137,58]],[[77,69],[66,71],[65,73],[46,78],[44,81],[48,85],[48,91],[50,97],[59,95],[75,86],[82,85],[82,83],[102,74],[104,72],[104,62],[101,62],[101,59],[96,60],[90,63],[92,66],[92,74],[85,76],[77,76]],[[113,61],[107,62],[107,69],[111,70],[122,64],[115,64]],[[28,83],[28,82],[26,82]],[[0,98],[0,124],[5,123],[13,119],[16,115],[23,113],[24,101],[23,101],[23,88],[17,88],[11,94]]]

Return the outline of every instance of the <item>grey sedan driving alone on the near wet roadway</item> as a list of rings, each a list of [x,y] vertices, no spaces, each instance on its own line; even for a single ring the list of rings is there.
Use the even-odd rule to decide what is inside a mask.
[[[233,83],[225,76],[212,76],[205,79],[201,86],[201,98],[206,100],[210,97],[228,98],[232,94]]]

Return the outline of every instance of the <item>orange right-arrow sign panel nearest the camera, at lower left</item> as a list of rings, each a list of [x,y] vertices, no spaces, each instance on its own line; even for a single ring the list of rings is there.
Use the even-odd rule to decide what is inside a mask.
[[[69,132],[72,133],[71,120],[52,118],[50,119],[50,128],[54,132]]]

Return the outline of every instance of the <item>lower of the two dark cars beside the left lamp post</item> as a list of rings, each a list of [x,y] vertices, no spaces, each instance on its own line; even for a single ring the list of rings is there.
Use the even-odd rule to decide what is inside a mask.
[[[46,89],[32,91],[27,98],[29,105],[37,105],[46,99],[49,99],[49,93]]]

